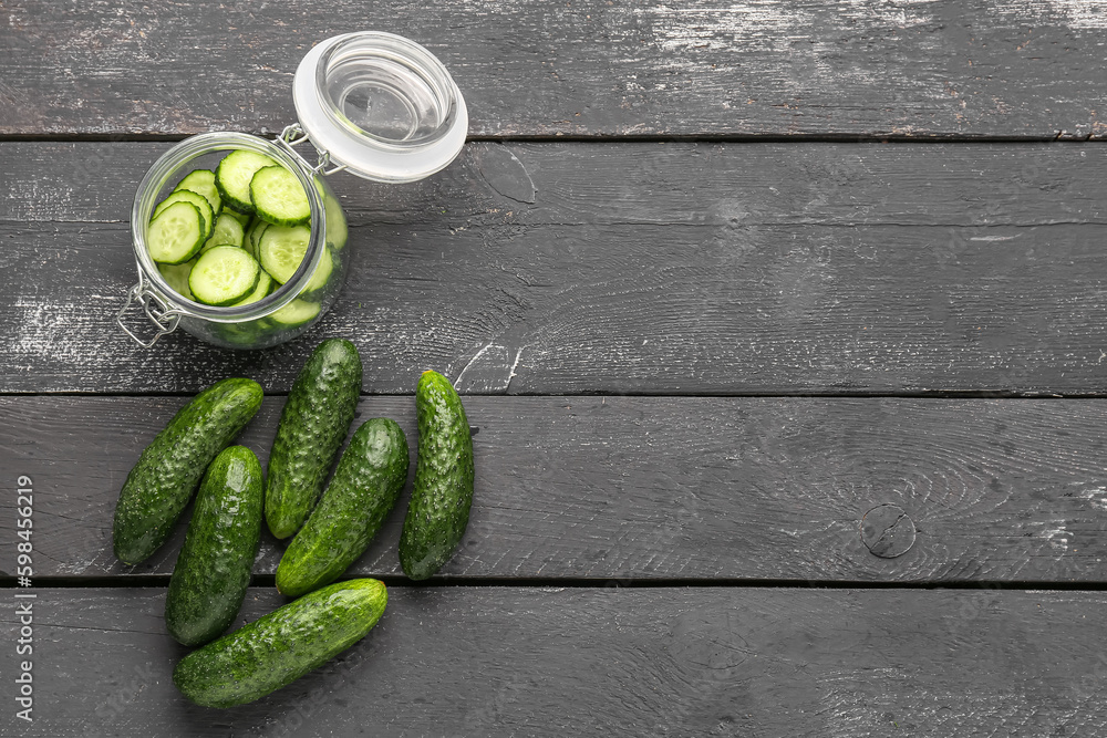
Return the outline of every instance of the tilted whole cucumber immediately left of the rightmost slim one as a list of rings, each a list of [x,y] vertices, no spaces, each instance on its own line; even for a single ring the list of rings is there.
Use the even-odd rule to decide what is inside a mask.
[[[372,418],[354,432],[334,478],[277,567],[282,594],[298,597],[330,584],[365,552],[407,481],[407,457],[395,420]]]

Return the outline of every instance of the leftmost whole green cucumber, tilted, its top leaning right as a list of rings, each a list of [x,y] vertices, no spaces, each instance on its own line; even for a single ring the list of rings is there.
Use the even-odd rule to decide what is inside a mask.
[[[261,407],[254,380],[216,382],[180,408],[138,457],[115,505],[115,557],[127,564],[165,542],[216,454]]]

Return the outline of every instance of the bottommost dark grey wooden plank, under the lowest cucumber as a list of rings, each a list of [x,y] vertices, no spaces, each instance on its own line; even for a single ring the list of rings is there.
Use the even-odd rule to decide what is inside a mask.
[[[242,617],[280,603],[251,590]],[[172,685],[186,649],[164,632],[164,590],[39,590],[34,723],[9,697],[0,730],[1083,735],[1107,720],[1107,658],[1088,647],[1107,635],[1105,605],[1101,592],[392,588],[344,655],[214,710]],[[12,605],[0,622],[14,647]]]

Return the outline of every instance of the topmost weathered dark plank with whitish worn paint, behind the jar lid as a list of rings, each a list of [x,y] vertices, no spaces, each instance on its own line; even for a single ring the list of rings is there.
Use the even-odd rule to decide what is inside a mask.
[[[9,3],[0,133],[279,132],[318,41],[427,44],[480,136],[1101,136],[1096,2]],[[355,20],[356,19],[356,20]]]

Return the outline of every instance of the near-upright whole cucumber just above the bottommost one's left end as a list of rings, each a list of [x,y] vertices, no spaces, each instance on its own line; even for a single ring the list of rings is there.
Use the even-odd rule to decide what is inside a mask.
[[[261,462],[250,449],[230,446],[208,466],[165,596],[165,626],[186,646],[221,635],[242,606],[262,499]]]

